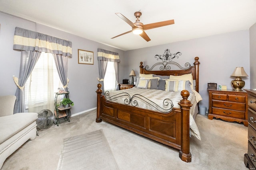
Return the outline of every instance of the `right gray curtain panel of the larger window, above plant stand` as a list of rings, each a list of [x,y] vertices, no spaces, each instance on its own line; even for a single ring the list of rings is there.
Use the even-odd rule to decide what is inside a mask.
[[[68,57],[62,56],[61,54],[53,54],[53,56],[60,81],[63,86],[66,86],[68,83]],[[68,92],[68,86],[64,90]]]

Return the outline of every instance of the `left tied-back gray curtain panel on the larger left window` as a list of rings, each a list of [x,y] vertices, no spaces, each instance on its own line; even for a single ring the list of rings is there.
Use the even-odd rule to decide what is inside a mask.
[[[39,51],[21,51],[20,58],[20,74],[18,84],[23,87],[28,80],[36,62],[38,61],[41,52]],[[23,90],[17,87],[16,102],[14,106],[14,113],[21,113],[25,111]]]

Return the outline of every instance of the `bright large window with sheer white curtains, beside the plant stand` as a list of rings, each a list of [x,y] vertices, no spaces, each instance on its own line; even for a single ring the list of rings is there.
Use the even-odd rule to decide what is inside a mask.
[[[54,92],[62,87],[52,54],[40,55],[24,87],[25,105],[29,112],[54,111]]]

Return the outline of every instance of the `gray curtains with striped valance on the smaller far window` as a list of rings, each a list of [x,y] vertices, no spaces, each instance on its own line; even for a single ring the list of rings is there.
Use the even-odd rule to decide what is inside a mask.
[[[98,49],[98,64],[99,64],[99,76],[100,79],[104,78],[106,74],[107,64],[108,62],[114,62],[114,69],[116,72],[116,90],[118,90],[118,78],[119,78],[119,72],[118,67],[120,63],[119,55],[116,52],[104,50],[104,49]],[[102,84],[102,91],[104,93],[104,82],[100,82]]]

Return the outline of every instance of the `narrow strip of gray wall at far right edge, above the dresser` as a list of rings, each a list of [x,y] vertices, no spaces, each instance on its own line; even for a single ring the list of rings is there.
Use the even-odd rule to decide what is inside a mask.
[[[256,88],[256,23],[250,27],[250,88]]]

